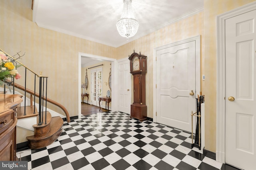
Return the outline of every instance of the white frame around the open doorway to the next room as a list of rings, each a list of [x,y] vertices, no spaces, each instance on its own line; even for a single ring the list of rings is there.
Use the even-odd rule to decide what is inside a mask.
[[[114,101],[118,101],[118,89],[115,88],[117,85],[117,61],[116,59],[108,58],[108,57],[102,57],[98,55],[92,55],[92,54],[86,54],[86,53],[80,53],[78,52],[78,118],[80,119],[82,116],[81,113],[81,57],[90,57],[91,59],[96,60],[104,60],[104,61],[111,61],[111,78],[112,78],[112,90],[111,90],[111,98],[113,103],[111,102],[111,108],[113,111],[116,111],[118,109],[117,103]]]

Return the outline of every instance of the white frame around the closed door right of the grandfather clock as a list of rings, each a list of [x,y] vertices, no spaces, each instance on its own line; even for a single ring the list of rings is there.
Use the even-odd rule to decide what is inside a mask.
[[[161,47],[154,48],[153,52],[153,121],[156,122],[156,51],[165,49],[168,47],[172,47],[174,45],[179,45],[182,43],[187,43],[190,41],[196,41],[196,92],[195,94],[199,94],[200,92],[200,35],[195,37],[191,37],[188,39],[184,39],[182,41],[177,41],[174,43],[170,43],[168,45],[164,45]]]

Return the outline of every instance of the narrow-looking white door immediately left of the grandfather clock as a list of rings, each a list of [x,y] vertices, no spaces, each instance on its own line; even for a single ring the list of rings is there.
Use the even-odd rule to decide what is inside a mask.
[[[118,111],[131,112],[131,73],[130,61],[118,62]]]

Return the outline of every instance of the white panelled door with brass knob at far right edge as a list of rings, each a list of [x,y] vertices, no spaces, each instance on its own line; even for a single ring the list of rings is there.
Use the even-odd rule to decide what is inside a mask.
[[[256,168],[256,10],[226,20],[226,163]],[[234,101],[232,101],[234,99]]]

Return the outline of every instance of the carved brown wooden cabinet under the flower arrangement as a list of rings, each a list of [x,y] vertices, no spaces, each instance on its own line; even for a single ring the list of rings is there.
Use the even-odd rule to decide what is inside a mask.
[[[16,160],[15,113],[22,102],[22,96],[0,94],[0,160]]]

